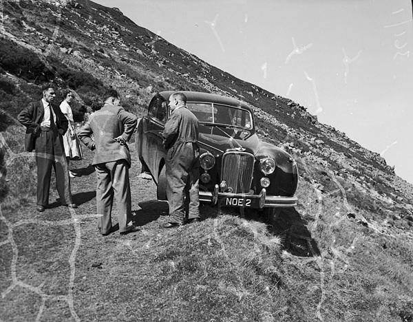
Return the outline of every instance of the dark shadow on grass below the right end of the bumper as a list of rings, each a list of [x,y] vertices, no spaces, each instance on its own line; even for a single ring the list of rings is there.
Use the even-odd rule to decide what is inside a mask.
[[[300,257],[321,255],[317,243],[311,237],[306,223],[295,208],[283,208],[282,211],[268,218],[271,233],[282,237],[284,249]]]

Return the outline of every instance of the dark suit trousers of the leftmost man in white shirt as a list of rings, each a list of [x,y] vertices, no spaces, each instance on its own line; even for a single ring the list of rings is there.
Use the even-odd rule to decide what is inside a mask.
[[[57,131],[41,131],[36,138],[37,204],[49,203],[52,167],[56,175],[57,192],[61,204],[72,204],[69,169],[63,151],[63,141]]]

